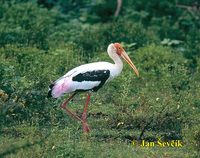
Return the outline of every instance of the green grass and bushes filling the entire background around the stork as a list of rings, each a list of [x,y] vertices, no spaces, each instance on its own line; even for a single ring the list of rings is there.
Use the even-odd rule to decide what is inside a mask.
[[[0,157],[198,157],[200,10],[196,0],[0,1]],[[140,77],[94,93],[88,123],[48,99],[48,85],[80,64],[111,61],[120,42]],[[85,95],[69,107],[81,115]],[[141,140],[183,147],[140,147]],[[136,145],[132,144],[132,141]]]

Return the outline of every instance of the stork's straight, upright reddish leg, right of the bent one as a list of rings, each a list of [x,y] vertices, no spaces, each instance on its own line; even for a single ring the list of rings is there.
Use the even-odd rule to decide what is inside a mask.
[[[83,132],[84,133],[89,133],[90,128],[87,124],[87,109],[88,109],[88,104],[90,102],[90,94],[87,94],[87,99],[85,102],[85,106],[84,106],[84,110],[83,110],[83,114],[82,114],[82,126],[83,126]]]

